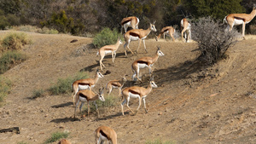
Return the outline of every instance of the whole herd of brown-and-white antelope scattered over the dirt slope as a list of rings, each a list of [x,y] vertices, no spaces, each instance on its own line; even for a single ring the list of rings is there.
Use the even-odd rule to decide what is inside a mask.
[[[227,29],[229,31],[232,30],[233,26],[242,25],[242,37],[244,37],[244,31],[245,31],[245,25],[253,20],[254,16],[256,15],[256,5],[253,4],[253,11],[251,14],[228,14],[224,18],[224,22],[228,24]],[[155,21],[153,23],[149,22],[148,29],[138,29],[139,25],[139,19],[136,16],[126,17],[121,21],[122,30],[125,30],[124,38],[125,38],[125,55],[127,56],[126,49],[129,49],[131,54],[134,54],[134,52],[130,49],[129,44],[131,41],[139,41],[138,47],[136,52],[138,53],[138,50],[140,48],[141,41],[143,41],[143,46],[145,49],[145,52],[147,53],[148,50],[146,49],[145,39],[148,36],[148,34],[153,31],[156,32],[156,28],[154,26]],[[191,40],[191,24],[189,23],[189,20],[184,18],[180,22],[182,31],[182,41],[189,43]],[[130,31],[127,31],[128,27],[131,27]],[[172,26],[166,26],[163,27],[159,33],[158,36],[155,36],[155,40],[159,41],[160,37],[163,35],[165,39],[165,35],[170,35],[172,37],[172,41],[175,42],[175,38],[173,37],[173,34],[175,33],[175,28]],[[185,39],[185,40],[184,40]],[[102,67],[106,67],[103,65],[102,60],[105,55],[112,54],[112,62],[114,62],[116,57],[116,51],[119,49],[119,45],[122,44],[122,41],[120,38],[118,38],[117,42],[113,45],[106,45],[103,46],[101,49],[98,50],[96,55],[100,55],[100,68],[102,70]],[[143,105],[145,112],[148,112],[146,107],[146,101],[145,98],[147,95],[151,92],[153,88],[157,88],[157,85],[154,83],[154,77],[152,76],[152,66],[154,63],[159,59],[160,56],[164,56],[164,53],[160,50],[160,47],[155,52],[155,55],[152,57],[142,57],[140,59],[137,59],[132,62],[131,64],[131,70],[134,72],[132,74],[132,80],[133,81],[139,81],[142,82],[142,79],[139,77],[139,71],[140,69],[143,69],[145,67],[148,67],[150,80],[147,88],[139,87],[139,86],[131,86],[127,87],[125,89],[122,89],[126,78],[124,77],[120,78],[119,80],[114,79],[108,82],[106,89],[108,89],[108,95],[112,92],[113,89],[119,89],[119,96],[121,95],[124,101],[121,102],[121,112],[122,115],[125,115],[124,113],[124,105],[129,108],[131,113],[136,114],[141,106],[141,102],[143,100]],[[84,105],[84,102],[87,102],[88,107],[88,116],[90,114],[90,101],[93,101],[96,105],[96,100],[105,101],[104,95],[103,95],[103,89],[99,89],[98,93],[94,93],[92,91],[92,88],[95,87],[96,83],[98,82],[99,78],[103,78],[103,75],[98,70],[96,71],[95,78],[86,78],[86,79],[80,79],[75,82],[73,82],[73,104],[75,105],[74,109],[74,118],[76,117],[76,109],[79,107],[79,103],[81,102],[81,105],[79,107],[80,113],[81,108]],[[133,112],[131,108],[129,107],[129,101],[131,98],[137,98],[138,99],[138,107],[136,112]],[[96,111],[97,116],[99,117],[99,112],[96,105]],[[102,143],[103,141],[111,141],[113,144],[117,143],[117,135],[116,132],[111,129],[108,126],[100,126],[95,130],[95,137],[96,137],[96,143]]]

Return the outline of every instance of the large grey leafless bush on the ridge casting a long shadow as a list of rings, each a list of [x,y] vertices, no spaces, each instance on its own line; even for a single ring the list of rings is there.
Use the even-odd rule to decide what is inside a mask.
[[[225,26],[211,17],[196,20],[192,28],[192,39],[198,43],[201,51],[199,60],[206,65],[223,59],[225,52],[237,42],[240,35],[236,30],[225,32]]]

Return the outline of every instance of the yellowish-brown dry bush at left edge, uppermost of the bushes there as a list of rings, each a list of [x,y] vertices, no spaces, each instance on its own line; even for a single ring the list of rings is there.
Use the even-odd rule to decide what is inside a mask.
[[[21,49],[25,44],[31,43],[31,40],[23,32],[10,33],[2,40],[2,51]]]

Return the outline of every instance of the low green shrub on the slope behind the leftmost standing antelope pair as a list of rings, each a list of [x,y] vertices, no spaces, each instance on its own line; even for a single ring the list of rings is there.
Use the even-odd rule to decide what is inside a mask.
[[[87,78],[85,72],[79,72],[76,76],[68,78],[59,78],[57,84],[53,84],[49,89],[50,95],[60,95],[72,92],[72,84],[79,79]]]

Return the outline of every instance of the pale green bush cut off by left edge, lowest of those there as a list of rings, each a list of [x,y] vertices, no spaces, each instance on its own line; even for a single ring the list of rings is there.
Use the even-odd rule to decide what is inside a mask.
[[[11,81],[8,78],[0,77],[0,106],[3,105],[4,97],[9,94]]]

